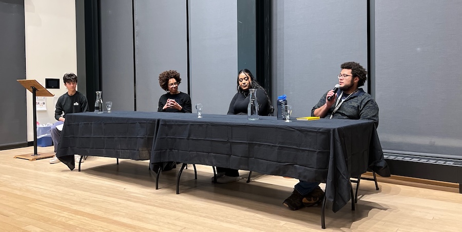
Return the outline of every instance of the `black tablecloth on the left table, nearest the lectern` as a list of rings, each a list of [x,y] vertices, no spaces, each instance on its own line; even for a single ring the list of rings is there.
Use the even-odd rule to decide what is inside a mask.
[[[162,117],[168,115],[140,111],[66,114],[56,157],[71,170],[74,154],[149,160]]]

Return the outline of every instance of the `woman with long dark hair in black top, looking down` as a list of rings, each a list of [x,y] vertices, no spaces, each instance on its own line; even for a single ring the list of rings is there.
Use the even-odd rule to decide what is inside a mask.
[[[249,89],[257,89],[258,115],[266,116],[271,113],[271,101],[265,89],[261,87],[248,69],[239,71],[237,78],[237,93],[229,104],[227,114],[247,114]],[[217,167],[217,182],[229,183],[239,181],[239,170]],[[214,178],[212,178],[214,181]]]

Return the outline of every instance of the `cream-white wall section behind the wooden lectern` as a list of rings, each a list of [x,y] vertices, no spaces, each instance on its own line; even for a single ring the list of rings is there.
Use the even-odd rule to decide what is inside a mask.
[[[60,79],[60,89],[48,89],[59,97],[67,92],[66,72],[77,73],[75,0],[25,0],[26,78],[45,86],[45,78]],[[27,90],[25,90],[26,92]],[[54,101],[47,111],[37,111],[37,121],[54,123]],[[32,93],[27,91],[27,139],[33,140]]]

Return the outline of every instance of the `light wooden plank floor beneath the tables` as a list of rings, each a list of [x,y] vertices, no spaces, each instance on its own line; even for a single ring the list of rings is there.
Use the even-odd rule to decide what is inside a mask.
[[[39,147],[39,153],[52,147]],[[0,151],[0,231],[460,231],[457,188],[363,180],[356,211],[288,210],[297,180],[255,173],[251,183],[210,182],[211,167],[163,173],[159,190],[147,161],[90,157],[82,171],[50,159],[14,159],[32,147]],[[247,171],[241,171],[245,178]],[[321,185],[324,188],[324,185]]]

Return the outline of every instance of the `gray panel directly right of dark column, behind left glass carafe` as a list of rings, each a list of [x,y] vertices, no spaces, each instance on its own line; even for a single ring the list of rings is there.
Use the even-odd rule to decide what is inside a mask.
[[[100,71],[103,101],[112,101],[112,110],[133,110],[131,1],[101,0],[100,18]]]

